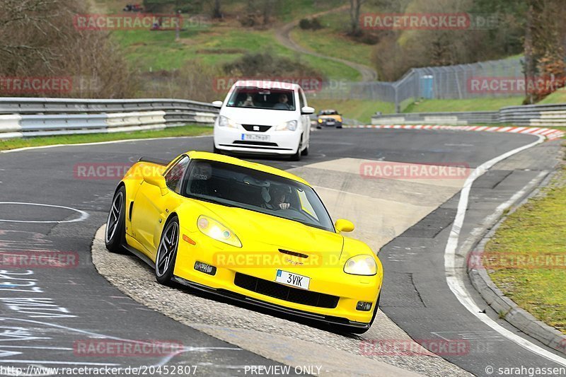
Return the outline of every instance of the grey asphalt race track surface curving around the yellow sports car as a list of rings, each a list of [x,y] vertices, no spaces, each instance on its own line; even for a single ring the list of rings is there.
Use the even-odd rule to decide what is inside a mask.
[[[536,139],[529,135],[487,132],[323,129],[313,132],[311,153],[300,163],[267,159],[258,162],[284,169],[296,168],[298,172],[317,163],[325,163],[329,168],[328,164],[334,164],[330,161],[341,158],[401,163],[466,163],[470,168],[476,168]],[[484,219],[499,204],[507,202],[526,185],[540,182],[550,173],[558,145],[558,142],[546,142],[527,149],[498,163],[474,182],[459,238],[461,244],[466,243],[470,234],[482,228]],[[120,167],[137,161],[141,156],[171,159],[192,149],[211,151],[212,137],[56,146],[0,153],[0,252],[17,254],[49,250],[67,253],[76,260],[67,268],[8,266],[1,271],[0,366],[197,366],[197,376],[250,375],[249,366],[263,366],[265,371],[271,372],[267,374],[280,371],[275,367],[283,367],[284,357],[275,361],[275,358],[250,351],[253,349],[251,346],[238,347],[236,344],[246,342],[236,340],[237,332],[233,332],[234,341],[230,342],[226,333],[213,337],[209,335],[213,332],[205,333],[204,326],[197,330],[195,326],[168,318],[149,308],[159,308],[167,305],[166,302],[142,305],[112,286],[93,266],[91,245],[96,231],[105,223],[113,190],[120,173],[123,173]],[[81,169],[91,166],[115,167],[117,171],[110,172],[111,176],[107,178],[81,175]],[[456,371],[465,375],[468,371],[487,376],[490,375],[487,366],[496,370],[512,366],[565,366],[559,364],[560,359],[558,362],[551,361],[507,339],[472,315],[450,291],[446,283],[444,250],[456,216],[457,191],[396,238],[379,238],[386,243],[379,254],[386,277],[381,308],[412,339],[463,339],[469,347],[465,352],[441,355],[454,366],[439,358],[435,361],[426,356],[433,359],[430,361],[432,364],[439,364],[436,371],[419,369],[415,364],[420,362],[412,361],[417,359],[411,355],[400,359],[385,355],[376,359],[429,375],[452,375]],[[426,200],[422,198],[422,201]],[[366,211],[377,213],[380,208],[368,206]],[[134,267],[144,268],[133,259],[129,261],[132,262],[132,271]],[[127,267],[125,271],[128,271]],[[497,313],[492,313],[487,304],[474,294],[470,284],[466,284],[478,306],[486,309],[483,315],[519,334],[499,320]],[[203,300],[203,303],[214,301],[207,297]],[[232,310],[230,303],[223,305],[226,311]],[[288,319],[281,322],[281,318],[263,311],[254,315],[260,321],[259,330],[267,335],[277,332],[277,329],[270,329],[270,323],[291,326],[294,323]],[[385,315],[383,318],[386,319]],[[202,323],[207,324],[205,320]],[[379,333],[380,323],[377,321],[371,331]],[[221,317],[216,325],[224,325]],[[262,325],[265,328],[261,328]],[[310,324],[301,323],[301,326],[308,328]],[[337,337],[357,343],[362,339],[330,334],[313,327],[315,332],[316,338],[311,342],[319,344],[325,343],[324,338],[319,338],[325,334],[336,342]],[[293,336],[294,330],[288,329],[287,337]],[[536,340],[520,336],[552,352]],[[258,342],[275,343],[278,339],[276,336],[266,338]],[[179,342],[183,347],[174,356],[103,357],[84,356],[77,352],[81,342],[100,339],[142,343],[169,340]],[[301,342],[308,341],[301,339]],[[277,349],[276,343],[273,349]],[[324,374],[324,364],[321,367],[320,371],[313,369],[308,374]],[[354,373],[354,366],[346,363],[343,367],[342,373],[349,367]],[[294,372],[291,369],[291,373]]]

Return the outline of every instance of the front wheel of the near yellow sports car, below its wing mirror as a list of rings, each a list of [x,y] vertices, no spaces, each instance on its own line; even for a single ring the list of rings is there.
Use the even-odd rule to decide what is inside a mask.
[[[179,247],[179,234],[179,219],[173,216],[163,226],[155,256],[155,279],[159,284],[171,285]]]

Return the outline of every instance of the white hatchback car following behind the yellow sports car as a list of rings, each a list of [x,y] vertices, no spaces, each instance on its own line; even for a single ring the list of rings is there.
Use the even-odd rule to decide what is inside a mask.
[[[241,80],[230,88],[214,122],[214,152],[272,154],[294,161],[308,154],[314,109],[296,83]]]

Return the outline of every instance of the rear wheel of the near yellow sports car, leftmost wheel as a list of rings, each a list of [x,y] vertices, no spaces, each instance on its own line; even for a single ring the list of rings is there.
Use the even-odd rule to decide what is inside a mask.
[[[120,186],[112,198],[108,212],[104,243],[110,253],[125,254],[126,244],[126,187]]]

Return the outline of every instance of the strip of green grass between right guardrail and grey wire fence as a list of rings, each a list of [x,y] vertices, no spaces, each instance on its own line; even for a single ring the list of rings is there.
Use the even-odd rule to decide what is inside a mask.
[[[482,111],[499,110],[504,106],[521,105],[523,97],[470,98],[466,100],[420,100],[403,112]]]

